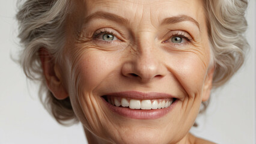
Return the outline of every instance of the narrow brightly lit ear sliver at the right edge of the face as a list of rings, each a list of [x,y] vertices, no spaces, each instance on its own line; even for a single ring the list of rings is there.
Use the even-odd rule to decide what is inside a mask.
[[[204,88],[203,88],[202,101],[207,101],[210,98],[214,70],[215,70],[215,68],[212,67],[212,68],[209,68],[209,70],[207,72],[206,79],[204,80]]]

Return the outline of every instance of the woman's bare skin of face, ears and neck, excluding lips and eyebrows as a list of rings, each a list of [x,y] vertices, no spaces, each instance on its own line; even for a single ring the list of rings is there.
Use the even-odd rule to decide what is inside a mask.
[[[48,88],[59,100],[70,97],[89,143],[212,143],[189,134],[212,88],[202,1],[87,0],[73,6],[62,61],[49,62],[53,56],[45,49],[40,58]],[[126,23],[87,19],[97,11],[117,14]],[[163,24],[175,16],[196,22]],[[99,32],[106,30],[114,40],[103,40],[105,33]],[[172,41],[177,34],[181,43]],[[161,118],[131,119],[111,112],[100,98],[121,91],[163,92],[178,99]]]

